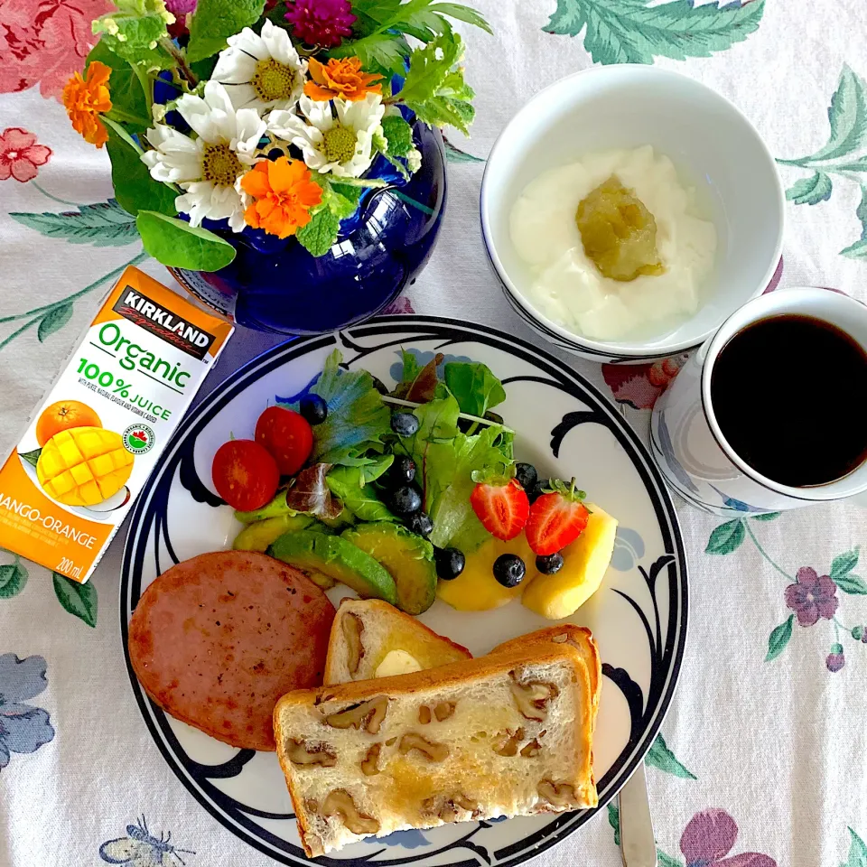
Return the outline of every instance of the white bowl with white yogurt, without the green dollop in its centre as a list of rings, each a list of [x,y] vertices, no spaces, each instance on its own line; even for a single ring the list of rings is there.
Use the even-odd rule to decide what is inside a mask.
[[[611,177],[656,223],[661,271],[601,274],[576,224]],[[597,361],[644,362],[700,345],[778,265],[782,186],[741,112],[656,67],[595,67],[555,82],[508,123],[481,189],[488,255],[516,311]]]

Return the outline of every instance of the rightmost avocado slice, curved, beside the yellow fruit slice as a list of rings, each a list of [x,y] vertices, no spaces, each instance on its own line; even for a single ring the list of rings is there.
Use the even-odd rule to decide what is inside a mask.
[[[436,598],[433,545],[406,527],[381,521],[344,530],[341,538],[384,565],[395,579],[397,607],[407,614],[427,611]]]

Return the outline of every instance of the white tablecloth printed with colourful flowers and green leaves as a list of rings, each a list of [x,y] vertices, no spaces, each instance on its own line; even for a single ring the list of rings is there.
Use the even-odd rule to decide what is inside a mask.
[[[403,312],[459,315],[537,340],[500,295],[480,243],[482,167],[532,92],[594,63],[657,63],[737,103],[778,157],[787,240],[771,288],[867,300],[867,10],[862,0],[479,0],[495,33],[466,33],[478,91],[471,140],[450,136],[439,245]],[[99,295],[149,261],[111,198],[108,160],[58,97],[107,0],[0,0],[0,452],[8,452]],[[205,390],[275,342],[239,330]],[[802,348],[802,363],[821,364]],[[641,368],[572,360],[646,433],[683,359]],[[853,395],[833,418],[863,424]],[[690,639],[648,754],[666,867],[867,867],[867,514],[843,503],[720,522],[682,503]],[[118,629],[125,534],[92,581],[0,552],[0,865],[269,863],[202,810],[149,738]],[[867,552],[865,552],[867,555]],[[171,837],[170,837],[171,834]],[[620,862],[613,804],[539,857]]]

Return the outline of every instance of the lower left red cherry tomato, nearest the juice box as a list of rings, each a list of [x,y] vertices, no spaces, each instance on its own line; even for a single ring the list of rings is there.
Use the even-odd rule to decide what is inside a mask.
[[[232,508],[249,511],[274,499],[280,484],[277,462],[253,440],[229,440],[214,455],[214,487]]]

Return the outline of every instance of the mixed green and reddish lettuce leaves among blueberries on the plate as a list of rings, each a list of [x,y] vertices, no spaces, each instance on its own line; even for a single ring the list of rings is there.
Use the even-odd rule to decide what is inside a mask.
[[[422,508],[433,520],[433,545],[470,553],[489,538],[470,495],[476,480],[514,474],[514,433],[485,417],[506,399],[502,383],[484,364],[443,363],[441,353],[424,365],[406,350],[402,359],[401,381],[383,396],[367,371],[341,368],[340,350],[331,353],[304,392],[328,404],[325,421],[313,425],[312,466],[278,493],[282,508],[262,511],[289,508],[327,520],[342,508],[350,519],[399,522],[379,486],[395,455],[406,454],[415,461]],[[301,396],[277,402],[297,408]],[[393,408],[413,412],[419,421],[414,435],[392,431]]]

